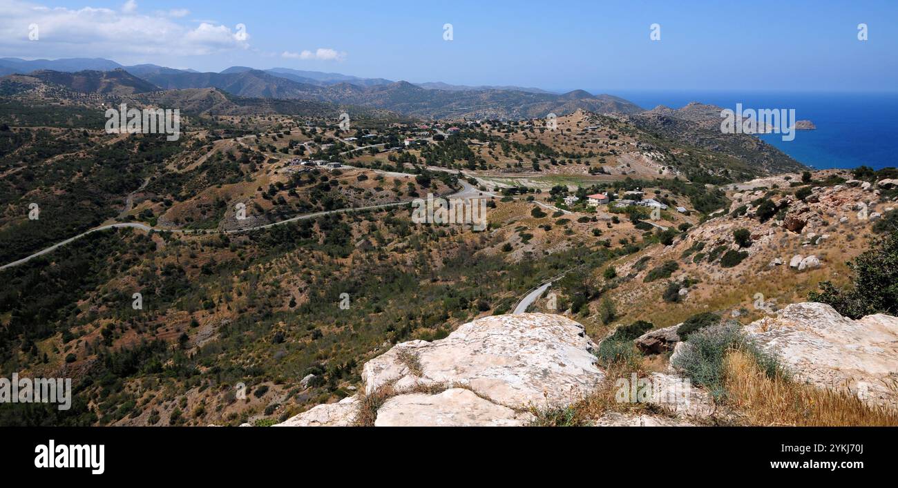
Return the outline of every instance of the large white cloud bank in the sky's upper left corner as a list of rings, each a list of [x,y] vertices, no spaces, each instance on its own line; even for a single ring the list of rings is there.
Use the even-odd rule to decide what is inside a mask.
[[[120,11],[84,7],[48,7],[22,0],[0,0],[0,57],[143,58],[201,56],[249,48],[249,34],[237,27],[175,18],[186,9],[136,13],[130,0]],[[40,40],[28,39],[37,24]]]

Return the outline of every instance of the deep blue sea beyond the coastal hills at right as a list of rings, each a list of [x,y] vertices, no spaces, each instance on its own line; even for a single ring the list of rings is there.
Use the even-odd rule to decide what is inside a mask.
[[[736,103],[743,109],[795,109],[797,120],[808,119],[817,129],[797,131],[793,141],[775,134],[761,139],[819,170],[898,166],[898,92],[591,92],[607,92],[644,109],[679,109],[691,101],[733,110]]]

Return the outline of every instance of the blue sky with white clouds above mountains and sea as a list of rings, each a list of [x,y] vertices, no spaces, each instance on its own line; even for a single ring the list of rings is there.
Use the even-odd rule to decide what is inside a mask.
[[[0,57],[283,66],[593,92],[898,87],[898,2],[888,0],[0,0],[0,10],[12,13],[0,19]],[[861,22],[867,41],[858,40]],[[30,42],[32,23],[40,39]],[[649,39],[652,23],[658,41]]]

